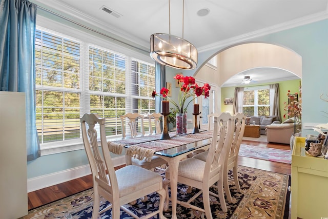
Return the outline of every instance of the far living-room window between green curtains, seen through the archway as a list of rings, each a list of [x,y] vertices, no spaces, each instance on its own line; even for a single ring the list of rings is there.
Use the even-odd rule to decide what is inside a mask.
[[[270,115],[269,88],[247,88],[243,93],[242,112],[245,115]]]

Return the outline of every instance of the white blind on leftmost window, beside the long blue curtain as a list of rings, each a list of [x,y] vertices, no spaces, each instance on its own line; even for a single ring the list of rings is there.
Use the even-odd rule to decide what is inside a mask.
[[[79,137],[80,45],[36,31],[36,128],[40,143]]]

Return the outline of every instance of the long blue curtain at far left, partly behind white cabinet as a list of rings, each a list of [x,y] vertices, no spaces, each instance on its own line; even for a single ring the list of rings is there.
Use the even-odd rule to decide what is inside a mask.
[[[0,90],[25,92],[27,160],[40,156],[35,126],[36,5],[0,0]]]

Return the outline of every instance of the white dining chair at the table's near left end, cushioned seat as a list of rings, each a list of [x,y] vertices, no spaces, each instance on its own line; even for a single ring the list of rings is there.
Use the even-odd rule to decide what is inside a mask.
[[[164,219],[163,206],[166,191],[162,187],[162,177],[145,168],[129,165],[114,170],[111,155],[106,141],[105,118],[100,118],[98,114],[85,114],[80,118],[82,127],[82,136],[85,150],[88,156],[94,190],[94,202],[92,219],[109,209],[112,209],[112,218],[120,218],[120,209],[126,211],[134,218],[138,217],[134,212],[129,210],[126,204],[134,202],[141,196],[157,192],[159,194],[158,210],[150,212],[148,215],[142,215],[141,218],[150,218],[158,214],[159,218]],[[87,130],[86,123],[89,128]],[[100,126],[100,148],[99,150],[95,124]],[[89,141],[90,139],[90,141]],[[105,209],[100,209],[100,196],[110,202]]]

